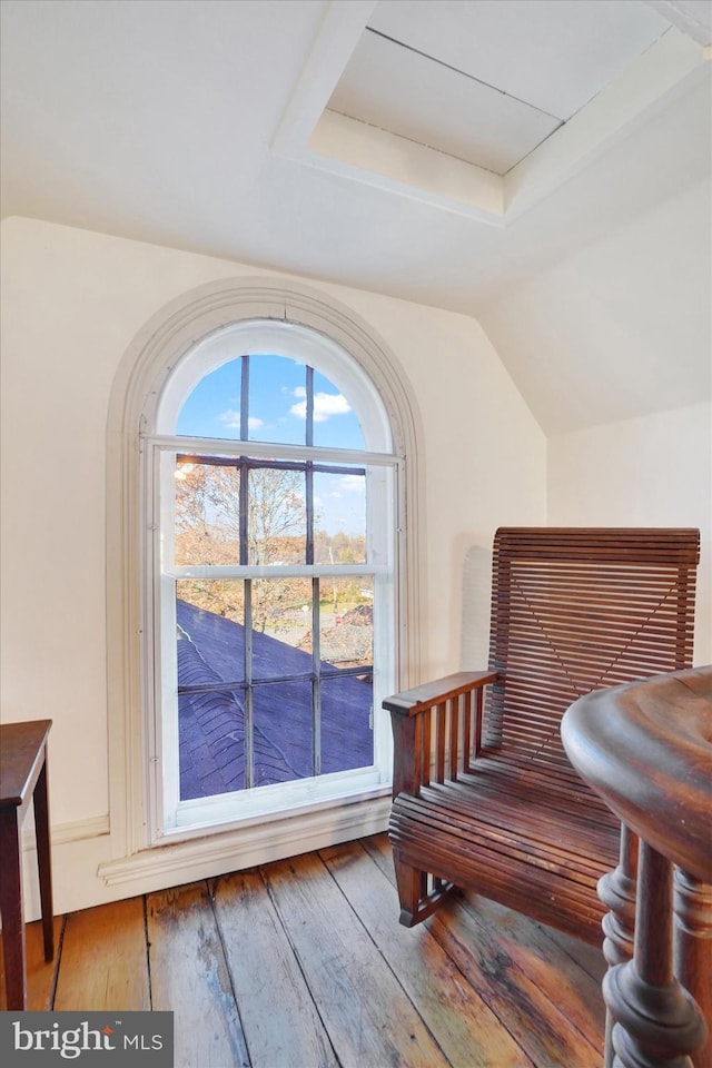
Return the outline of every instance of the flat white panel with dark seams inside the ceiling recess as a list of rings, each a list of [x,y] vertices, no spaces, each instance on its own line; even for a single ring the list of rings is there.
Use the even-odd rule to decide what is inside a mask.
[[[382,0],[328,108],[503,176],[669,28],[620,0]]]

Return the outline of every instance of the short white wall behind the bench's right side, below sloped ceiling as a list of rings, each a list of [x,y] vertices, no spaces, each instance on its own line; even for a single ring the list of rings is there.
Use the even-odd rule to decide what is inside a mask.
[[[548,522],[700,528],[694,662],[712,663],[712,404],[548,442]]]

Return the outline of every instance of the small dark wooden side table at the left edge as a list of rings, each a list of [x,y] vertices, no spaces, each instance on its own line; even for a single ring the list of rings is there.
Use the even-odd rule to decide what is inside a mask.
[[[49,849],[47,735],[51,720],[0,725],[0,914],[7,1008],[27,1007],[27,957],[20,830],[34,802],[44,960],[55,956],[52,870]]]

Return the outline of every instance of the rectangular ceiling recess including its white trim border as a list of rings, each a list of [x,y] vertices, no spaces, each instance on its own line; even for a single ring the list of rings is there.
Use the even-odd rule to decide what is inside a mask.
[[[506,226],[709,76],[689,7],[334,3],[273,149]]]

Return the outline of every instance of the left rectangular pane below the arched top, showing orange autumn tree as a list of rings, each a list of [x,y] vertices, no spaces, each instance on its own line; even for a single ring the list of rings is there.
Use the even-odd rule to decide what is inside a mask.
[[[175,475],[176,563],[238,563],[239,468],[178,461]]]

